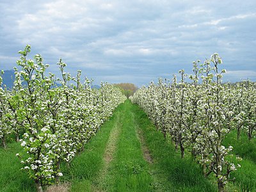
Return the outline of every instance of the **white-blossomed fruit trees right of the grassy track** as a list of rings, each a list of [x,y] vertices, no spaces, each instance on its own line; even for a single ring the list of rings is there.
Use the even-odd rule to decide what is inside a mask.
[[[172,138],[182,158],[188,148],[202,164],[205,177],[216,175],[219,191],[232,179],[230,172],[240,166],[234,164],[232,147],[222,145],[223,139],[236,129],[237,139],[243,131],[252,140],[256,129],[256,84],[249,80],[221,83],[225,74],[221,63],[220,56],[212,54],[202,64],[193,62],[193,75],[180,70],[179,82],[176,76],[172,82],[160,78],[158,84],[151,82],[131,97],[164,137]]]

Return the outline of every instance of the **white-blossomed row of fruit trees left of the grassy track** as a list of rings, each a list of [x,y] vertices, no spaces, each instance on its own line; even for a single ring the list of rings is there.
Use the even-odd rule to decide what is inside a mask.
[[[42,191],[42,186],[58,182],[63,175],[60,163],[70,163],[83,151],[84,144],[126,97],[108,83],[102,83],[99,90],[88,79],[81,83],[80,70],[72,78],[61,60],[62,79],[51,73],[47,76],[49,65],[39,54],[28,60],[30,50],[27,45],[19,51],[20,70],[15,68],[12,90],[3,88],[0,76],[0,140],[6,147],[6,139],[16,136],[24,148],[17,154],[22,170]]]

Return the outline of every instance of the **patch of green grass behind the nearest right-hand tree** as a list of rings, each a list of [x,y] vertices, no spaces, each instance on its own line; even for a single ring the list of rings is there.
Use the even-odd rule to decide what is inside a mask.
[[[242,191],[256,191],[256,140],[248,140],[246,134],[242,133],[239,140],[237,132],[230,132],[225,138],[223,145],[232,146],[233,154],[243,158],[243,161],[236,161],[241,164],[232,177],[236,177],[234,185],[239,186]]]

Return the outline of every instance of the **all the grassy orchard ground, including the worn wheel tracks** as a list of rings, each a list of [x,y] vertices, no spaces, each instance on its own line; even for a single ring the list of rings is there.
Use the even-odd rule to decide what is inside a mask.
[[[246,142],[241,136],[237,142],[234,137],[236,132],[230,133],[224,143],[232,144],[233,152],[243,157],[242,168],[234,172],[236,180],[226,190],[255,191],[255,141]],[[15,154],[20,150],[14,142],[0,150],[1,191],[36,190],[33,180],[19,170]],[[215,178],[206,179],[191,156],[181,159],[172,142],[164,140],[130,100],[115,109],[70,166],[61,166],[59,188],[70,191],[216,191]]]

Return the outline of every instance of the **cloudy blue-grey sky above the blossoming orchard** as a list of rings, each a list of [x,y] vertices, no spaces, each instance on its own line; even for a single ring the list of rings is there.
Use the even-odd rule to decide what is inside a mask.
[[[29,44],[49,72],[137,86],[218,52],[224,81],[256,81],[256,1],[0,1],[0,69]]]

